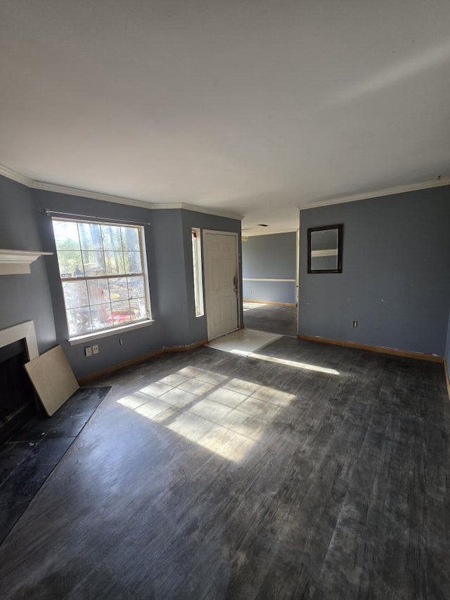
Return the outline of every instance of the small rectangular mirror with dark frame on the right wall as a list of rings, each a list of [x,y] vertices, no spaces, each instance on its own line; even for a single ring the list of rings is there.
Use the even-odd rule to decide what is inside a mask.
[[[342,224],[308,229],[308,273],[342,273]]]

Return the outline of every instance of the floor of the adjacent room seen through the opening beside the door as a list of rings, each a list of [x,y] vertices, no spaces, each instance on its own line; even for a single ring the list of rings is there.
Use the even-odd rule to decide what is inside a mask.
[[[297,307],[267,302],[244,302],[244,325],[249,329],[297,336]]]

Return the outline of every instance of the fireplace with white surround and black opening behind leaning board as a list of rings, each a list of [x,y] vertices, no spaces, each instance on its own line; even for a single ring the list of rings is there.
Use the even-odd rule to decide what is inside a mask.
[[[0,331],[0,444],[37,411],[23,365],[39,355],[33,321]]]

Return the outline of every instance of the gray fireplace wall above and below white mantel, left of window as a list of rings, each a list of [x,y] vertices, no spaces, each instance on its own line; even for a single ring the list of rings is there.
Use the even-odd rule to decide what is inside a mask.
[[[0,248],[52,251],[41,239],[32,191],[0,176]],[[31,274],[0,276],[0,329],[34,321],[39,352],[56,343],[53,307],[46,272],[50,257],[31,265]]]

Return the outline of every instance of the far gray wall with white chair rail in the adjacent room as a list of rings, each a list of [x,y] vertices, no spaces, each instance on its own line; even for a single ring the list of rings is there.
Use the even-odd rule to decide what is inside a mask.
[[[243,279],[294,279],[297,234],[252,236],[243,242]],[[243,281],[245,300],[295,303],[295,281]]]

